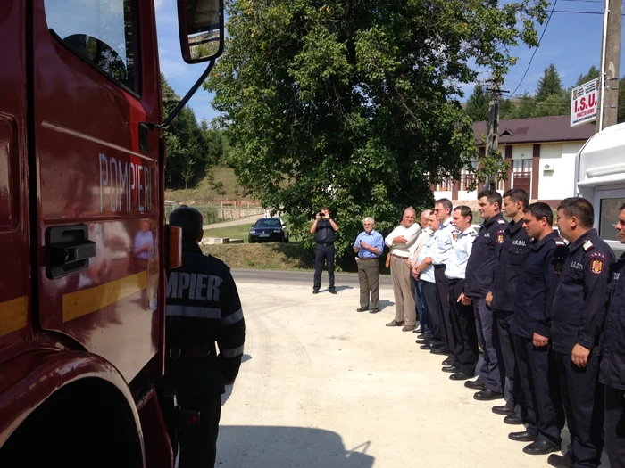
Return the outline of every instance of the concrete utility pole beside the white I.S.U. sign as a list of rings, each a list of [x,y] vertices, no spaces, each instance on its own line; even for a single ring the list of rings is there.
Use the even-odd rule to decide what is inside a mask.
[[[604,36],[601,47],[601,78],[597,131],[616,124],[621,73],[622,0],[604,0]]]

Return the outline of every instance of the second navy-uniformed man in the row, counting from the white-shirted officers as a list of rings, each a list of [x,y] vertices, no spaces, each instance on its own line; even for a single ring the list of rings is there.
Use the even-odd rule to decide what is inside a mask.
[[[521,424],[522,416],[525,415],[525,402],[511,327],[521,263],[529,252],[528,233],[523,229],[523,217],[528,202],[528,193],[521,188],[512,188],[504,193],[504,212],[512,220],[505,229],[504,243],[499,251],[495,291],[486,298],[487,304],[493,308],[499,334],[501,354],[497,359],[501,359],[504,363],[505,375],[510,381],[510,398],[504,406],[493,406],[492,411],[496,415],[505,415],[506,424]]]

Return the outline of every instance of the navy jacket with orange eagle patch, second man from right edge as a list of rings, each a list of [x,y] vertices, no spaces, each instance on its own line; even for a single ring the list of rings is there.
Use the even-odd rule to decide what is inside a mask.
[[[576,344],[596,346],[604,325],[612,249],[590,229],[570,246],[552,304],[554,350],[571,353]]]

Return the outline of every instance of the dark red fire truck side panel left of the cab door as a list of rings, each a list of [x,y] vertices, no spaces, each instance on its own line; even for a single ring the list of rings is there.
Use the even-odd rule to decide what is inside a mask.
[[[0,3],[0,349],[31,336],[24,10]],[[11,45],[11,46],[8,46]]]

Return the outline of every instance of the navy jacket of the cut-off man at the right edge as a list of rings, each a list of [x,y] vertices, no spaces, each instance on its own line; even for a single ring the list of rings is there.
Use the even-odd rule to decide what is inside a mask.
[[[625,390],[625,254],[610,268],[599,382]]]

